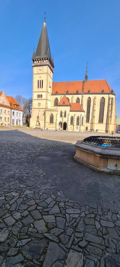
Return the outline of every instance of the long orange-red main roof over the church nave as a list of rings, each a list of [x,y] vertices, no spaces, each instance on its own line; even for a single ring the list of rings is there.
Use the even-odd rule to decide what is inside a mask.
[[[65,94],[67,91],[69,94],[82,93],[83,81],[73,81],[73,82],[53,82],[52,94]],[[106,80],[88,80],[84,83],[84,93],[111,93],[112,88]]]

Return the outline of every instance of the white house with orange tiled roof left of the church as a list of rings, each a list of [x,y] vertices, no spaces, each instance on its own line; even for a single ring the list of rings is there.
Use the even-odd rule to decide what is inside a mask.
[[[22,126],[22,108],[12,96],[7,96],[7,99],[11,105],[11,125]]]

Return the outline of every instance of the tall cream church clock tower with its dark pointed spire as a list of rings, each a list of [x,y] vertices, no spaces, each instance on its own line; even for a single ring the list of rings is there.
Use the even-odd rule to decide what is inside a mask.
[[[33,50],[33,103],[30,127],[44,128],[45,110],[51,108],[54,62],[51,58],[46,20],[40,34],[38,46]]]

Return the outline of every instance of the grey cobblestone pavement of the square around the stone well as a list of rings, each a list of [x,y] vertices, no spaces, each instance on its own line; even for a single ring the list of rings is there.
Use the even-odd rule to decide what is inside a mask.
[[[0,266],[120,266],[119,176],[73,156],[72,144],[0,131]]]

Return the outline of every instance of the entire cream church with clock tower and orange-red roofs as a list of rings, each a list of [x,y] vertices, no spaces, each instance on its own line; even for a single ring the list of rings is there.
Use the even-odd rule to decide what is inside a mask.
[[[31,128],[111,133],[116,128],[115,93],[106,80],[53,82],[46,21],[36,52],[33,50]]]

